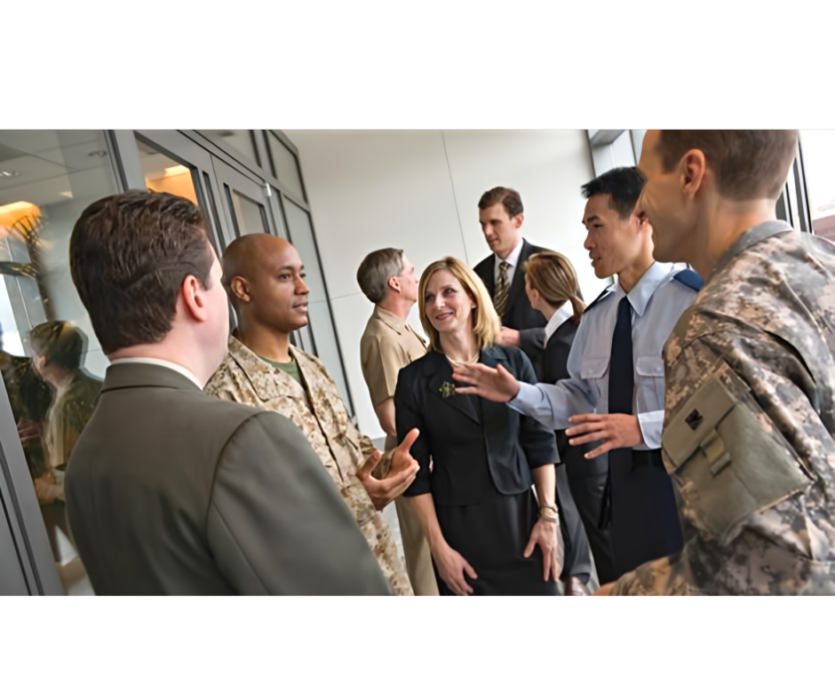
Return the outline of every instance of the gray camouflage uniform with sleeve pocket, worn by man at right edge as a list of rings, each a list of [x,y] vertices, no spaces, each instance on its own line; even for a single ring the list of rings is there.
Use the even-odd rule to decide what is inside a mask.
[[[833,351],[835,245],[746,231],[664,347],[684,549],[613,595],[835,593]]]

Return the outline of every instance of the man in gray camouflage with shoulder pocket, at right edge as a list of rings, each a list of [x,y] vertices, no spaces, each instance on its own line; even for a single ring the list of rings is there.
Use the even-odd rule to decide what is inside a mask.
[[[835,246],[775,220],[798,132],[648,131],[659,260],[704,287],[664,348],[684,550],[622,595],[835,593]]]

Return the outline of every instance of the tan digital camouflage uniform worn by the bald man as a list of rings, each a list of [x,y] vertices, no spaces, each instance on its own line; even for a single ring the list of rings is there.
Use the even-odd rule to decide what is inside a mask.
[[[205,392],[227,401],[274,410],[300,427],[354,513],[394,593],[412,595],[394,537],[356,477],[357,470],[375,451],[374,445],[348,420],[337,386],[322,362],[296,347],[290,347],[290,353],[298,362],[307,392],[289,374],[261,360],[236,338],[229,338],[227,357]],[[308,402],[308,393],[313,405]],[[384,459],[390,460],[390,453]]]

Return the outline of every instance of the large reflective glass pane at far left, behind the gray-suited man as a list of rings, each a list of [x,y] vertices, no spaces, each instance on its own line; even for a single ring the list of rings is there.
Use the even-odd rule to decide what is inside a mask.
[[[108,364],[69,274],[69,237],[88,205],[117,192],[107,151],[100,130],[0,130],[0,375],[68,594],[92,591],[64,472]]]

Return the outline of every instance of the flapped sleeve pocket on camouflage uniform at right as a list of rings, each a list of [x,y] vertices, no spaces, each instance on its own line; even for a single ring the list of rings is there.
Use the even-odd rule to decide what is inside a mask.
[[[721,545],[752,514],[812,483],[791,449],[717,378],[672,417],[661,444],[699,524]]]

